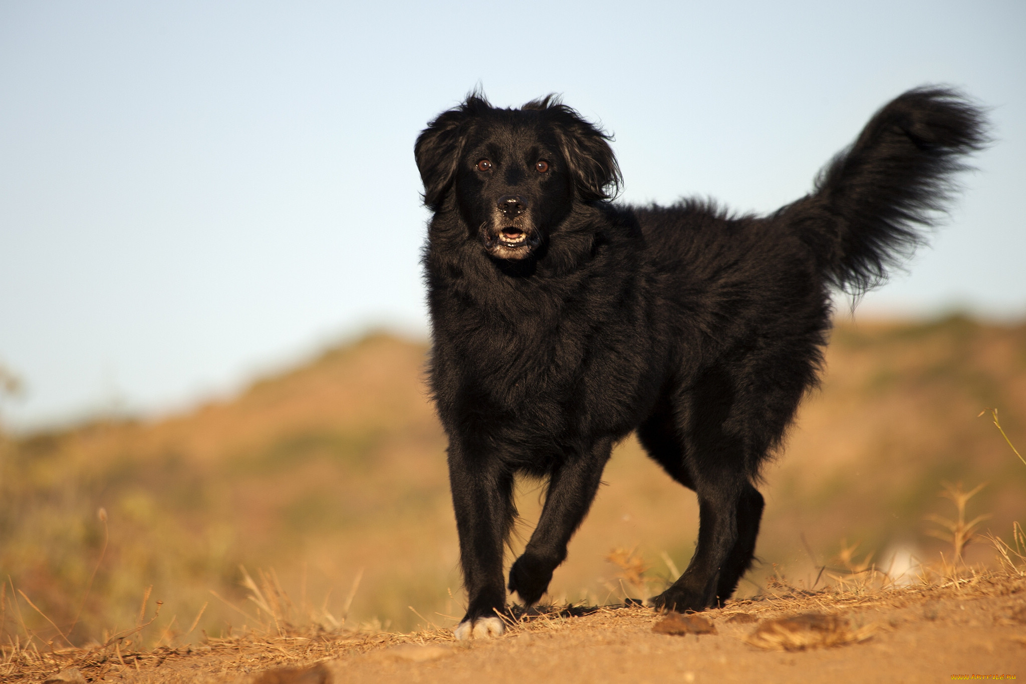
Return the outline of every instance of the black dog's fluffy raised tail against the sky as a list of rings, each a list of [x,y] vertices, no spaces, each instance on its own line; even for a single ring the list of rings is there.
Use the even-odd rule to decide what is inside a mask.
[[[924,241],[956,190],[965,156],[988,143],[984,112],[949,88],[900,95],[822,170],[812,194],[777,217],[796,230],[834,286],[853,294],[886,280]]]

